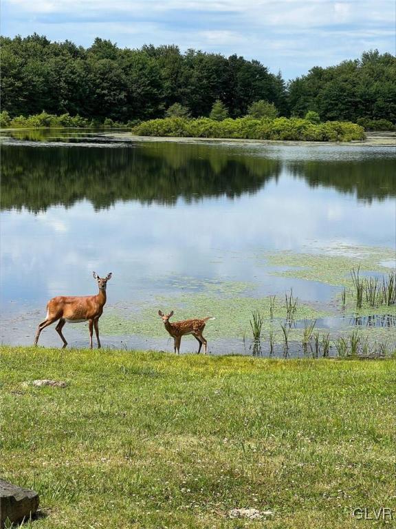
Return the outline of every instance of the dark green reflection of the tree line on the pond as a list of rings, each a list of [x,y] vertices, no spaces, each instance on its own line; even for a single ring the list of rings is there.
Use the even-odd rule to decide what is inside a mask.
[[[277,182],[281,174],[368,202],[396,196],[394,160],[388,157],[291,161],[271,154],[271,149],[268,156],[252,156],[241,148],[219,145],[38,145],[2,145],[1,209],[26,207],[38,212],[84,199],[100,209],[119,200],[175,205],[178,198],[186,203],[237,198],[256,193],[270,180]]]

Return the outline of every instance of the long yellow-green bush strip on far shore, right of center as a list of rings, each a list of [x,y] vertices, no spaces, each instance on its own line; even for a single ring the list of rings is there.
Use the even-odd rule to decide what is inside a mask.
[[[144,121],[132,129],[138,136],[241,138],[289,141],[353,141],[365,138],[360,125],[348,121],[311,123],[302,118],[164,118]]]

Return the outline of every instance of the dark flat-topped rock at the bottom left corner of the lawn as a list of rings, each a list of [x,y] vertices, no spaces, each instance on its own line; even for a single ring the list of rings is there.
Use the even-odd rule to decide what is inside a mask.
[[[0,528],[5,521],[28,520],[39,508],[39,495],[34,490],[21,488],[0,479]]]

